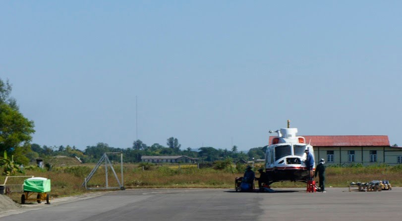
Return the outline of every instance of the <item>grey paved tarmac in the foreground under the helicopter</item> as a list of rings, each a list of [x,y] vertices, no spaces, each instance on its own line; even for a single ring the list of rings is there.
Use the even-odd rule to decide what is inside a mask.
[[[131,189],[35,205],[0,214],[0,221],[399,221],[402,188],[348,192],[301,188],[276,193],[229,189]],[[2,216],[2,217],[1,217]]]

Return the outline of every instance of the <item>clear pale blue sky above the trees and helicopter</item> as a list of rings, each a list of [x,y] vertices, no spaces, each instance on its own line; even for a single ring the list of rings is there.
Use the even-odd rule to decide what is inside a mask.
[[[147,145],[175,137],[182,149],[246,151],[290,119],[298,135],[388,135],[401,146],[401,9],[1,1],[0,78],[40,145],[127,148],[138,134]]]

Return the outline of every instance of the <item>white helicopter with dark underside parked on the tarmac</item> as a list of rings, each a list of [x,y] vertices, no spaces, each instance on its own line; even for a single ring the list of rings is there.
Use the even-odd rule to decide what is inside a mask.
[[[306,167],[306,149],[314,158],[313,147],[304,137],[296,136],[297,128],[281,128],[276,131],[272,144],[265,154],[265,169],[269,183],[278,181],[307,181],[310,173]],[[315,169],[315,165],[313,165]]]

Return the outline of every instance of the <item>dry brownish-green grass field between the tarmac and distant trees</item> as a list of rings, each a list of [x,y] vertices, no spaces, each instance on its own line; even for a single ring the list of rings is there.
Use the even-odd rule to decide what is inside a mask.
[[[26,175],[46,177],[52,182],[52,197],[64,197],[87,193],[81,186],[84,177],[89,174],[95,165],[80,165],[55,167],[46,171],[37,167],[26,168]],[[120,179],[120,166],[114,165]],[[109,186],[118,186],[113,172],[109,168]],[[196,165],[165,165],[152,166],[148,170],[133,164],[123,166],[124,186],[126,188],[234,188],[234,178],[241,173],[232,173],[227,169],[213,168],[198,169]],[[256,173],[258,177],[258,172]],[[0,176],[0,183],[4,181]],[[367,167],[328,167],[326,170],[326,186],[346,187],[347,182],[368,182],[371,180],[387,179],[393,186],[402,186],[402,166],[367,166]],[[14,180],[16,181],[16,179]],[[7,182],[11,184],[12,181]],[[21,183],[17,181],[17,183]],[[101,166],[89,181],[90,187],[105,186],[105,168]],[[279,182],[275,187],[304,187],[301,182]],[[96,190],[102,191],[102,190]],[[14,201],[20,202],[21,193],[9,195]]]

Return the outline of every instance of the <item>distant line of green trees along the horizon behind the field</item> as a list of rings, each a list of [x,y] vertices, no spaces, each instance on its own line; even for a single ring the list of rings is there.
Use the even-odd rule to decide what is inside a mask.
[[[214,147],[200,147],[192,149],[188,147],[185,150],[181,150],[181,145],[177,138],[170,137],[167,139],[167,146],[155,143],[151,146],[146,145],[141,140],[135,140],[131,148],[115,148],[110,147],[106,143],[98,143],[96,146],[87,146],[85,150],[81,151],[77,148],[70,146],[48,147],[46,145],[40,146],[38,144],[32,144],[32,152],[27,155],[31,161],[37,158],[46,158],[51,156],[67,156],[78,157],[83,163],[96,163],[104,153],[118,152],[123,153],[123,161],[125,163],[137,163],[141,162],[142,156],[188,156],[191,158],[197,158],[203,162],[214,162],[218,160],[225,160],[231,158],[233,161],[238,160],[251,160],[251,159],[264,159],[265,147],[252,148],[245,153],[243,151],[237,151],[237,147],[233,146],[231,150],[214,148]],[[112,160],[118,161],[118,156],[111,155]]]

